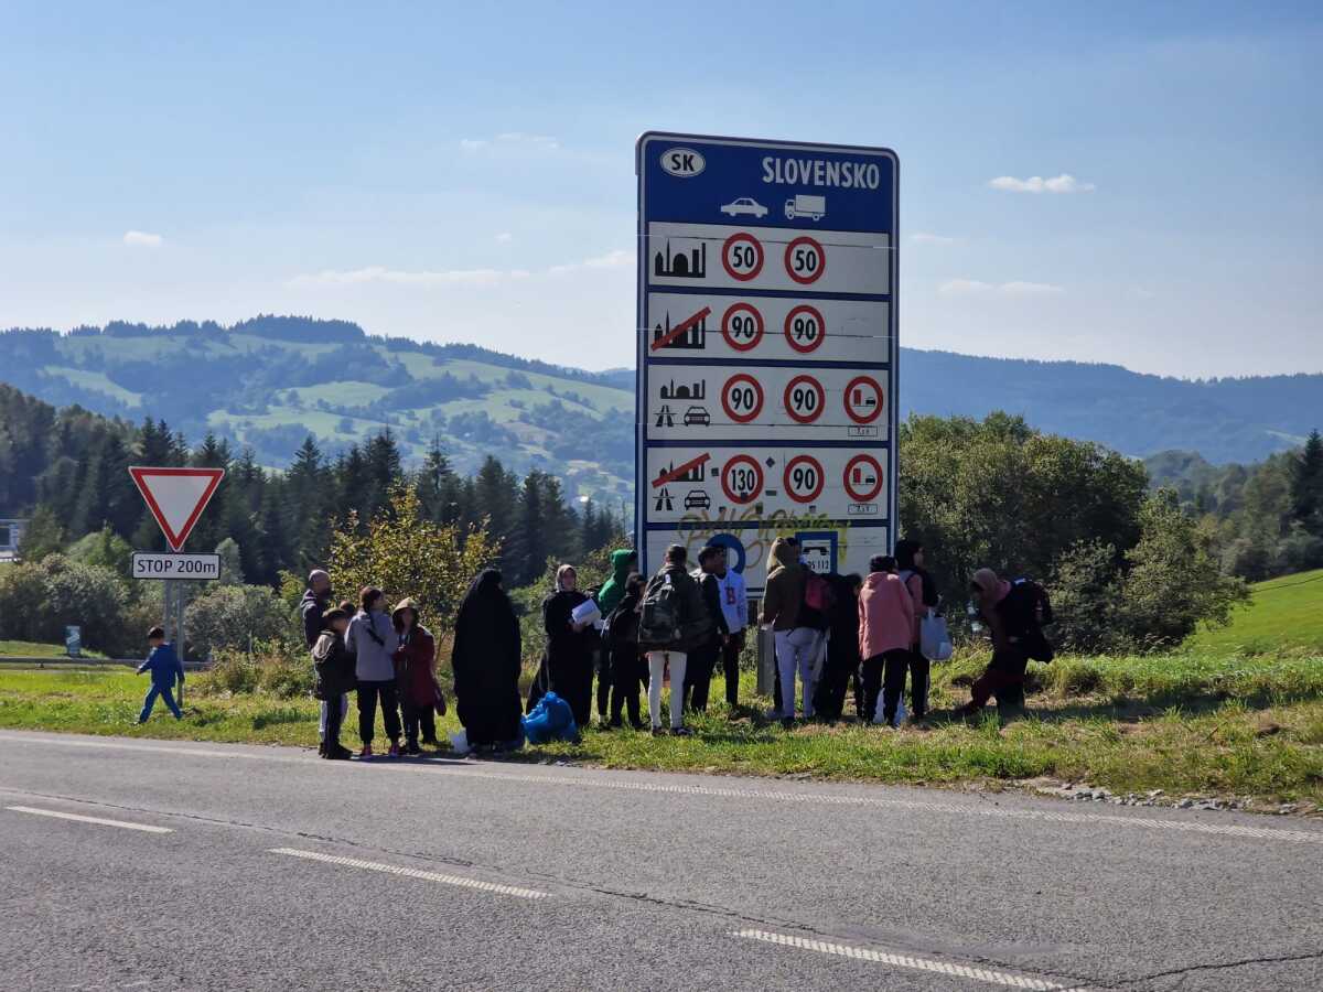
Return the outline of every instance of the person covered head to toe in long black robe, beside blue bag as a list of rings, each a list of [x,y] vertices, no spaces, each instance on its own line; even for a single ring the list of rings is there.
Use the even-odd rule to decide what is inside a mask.
[[[479,573],[455,618],[455,701],[472,747],[505,745],[520,731],[519,620],[496,569]]]

